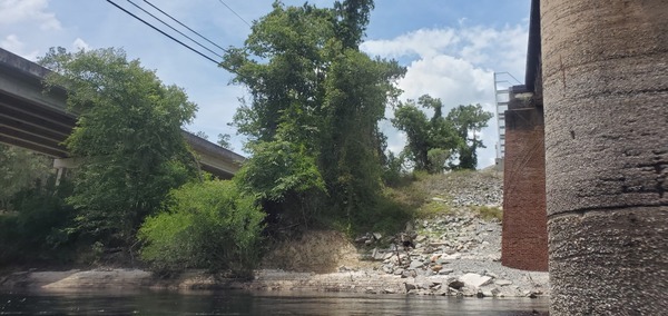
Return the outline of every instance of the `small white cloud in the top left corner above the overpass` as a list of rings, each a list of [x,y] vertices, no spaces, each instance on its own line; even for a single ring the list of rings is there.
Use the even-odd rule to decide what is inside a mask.
[[[37,21],[41,30],[59,30],[56,14],[47,12],[48,0],[0,0],[0,24]]]

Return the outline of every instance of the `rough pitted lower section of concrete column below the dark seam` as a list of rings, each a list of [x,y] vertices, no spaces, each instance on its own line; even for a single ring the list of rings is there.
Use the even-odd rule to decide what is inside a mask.
[[[666,315],[668,207],[550,220],[550,315]]]

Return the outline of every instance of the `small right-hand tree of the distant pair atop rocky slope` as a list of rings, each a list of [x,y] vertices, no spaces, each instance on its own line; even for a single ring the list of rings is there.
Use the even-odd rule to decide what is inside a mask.
[[[494,115],[484,111],[481,105],[459,106],[448,113],[448,120],[452,122],[459,137],[464,141],[459,147],[460,169],[475,169],[478,166],[478,148],[485,148],[482,139],[478,138],[480,130],[488,126],[488,121]]]

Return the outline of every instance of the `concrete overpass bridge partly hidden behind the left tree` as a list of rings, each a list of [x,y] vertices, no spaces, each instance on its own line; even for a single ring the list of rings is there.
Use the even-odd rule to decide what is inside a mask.
[[[63,89],[45,92],[42,81],[51,72],[30,60],[0,49],[0,142],[35,150],[53,158],[69,158],[61,142],[77,117],[66,111]],[[203,170],[232,178],[245,158],[206,139],[184,131]]]

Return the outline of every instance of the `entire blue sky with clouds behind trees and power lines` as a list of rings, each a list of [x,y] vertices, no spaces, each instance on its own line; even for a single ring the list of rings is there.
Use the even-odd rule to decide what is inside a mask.
[[[222,47],[242,46],[249,27],[219,0],[149,0]],[[252,22],[272,9],[273,0],[223,0]],[[159,22],[127,0],[114,0],[155,26]],[[132,0],[150,9],[143,0]],[[304,0],[284,0],[301,6]],[[333,0],[310,1],[330,7]],[[441,98],[444,112],[458,105],[481,103],[494,111],[494,71],[522,80],[529,24],[529,0],[376,0],[362,49],[372,56],[394,58],[407,67],[399,82],[402,99],[424,93]],[[155,11],[154,11],[155,12]],[[157,12],[156,12],[157,14]],[[166,19],[167,20],[167,19]],[[184,39],[184,41],[187,41]],[[195,45],[191,45],[195,46]],[[124,48],[131,59],[155,69],[165,83],[183,87],[199,107],[187,128],[204,131],[215,141],[230,134],[236,151],[242,137],[227,126],[246,96],[243,87],[228,86],[232,75],[180,47],[105,0],[0,0],[0,47],[35,60],[50,47],[68,50]],[[386,111],[391,117],[391,110]],[[401,150],[404,136],[382,122],[390,148]],[[479,167],[493,164],[498,138],[495,118],[484,129],[487,149]]]

